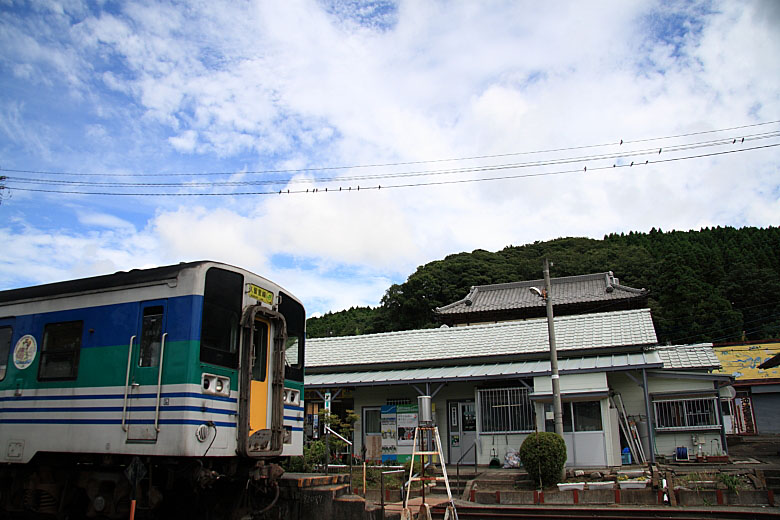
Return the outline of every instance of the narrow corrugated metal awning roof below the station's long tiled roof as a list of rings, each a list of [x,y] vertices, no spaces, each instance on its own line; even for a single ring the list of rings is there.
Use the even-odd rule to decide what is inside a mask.
[[[558,372],[608,372],[639,368],[660,368],[663,362],[655,351],[567,358],[558,361]],[[327,386],[371,386],[409,383],[474,381],[541,376],[550,373],[549,361],[519,361],[483,365],[463,365],[404,370],[371,370],[306,375],[307,388]]]

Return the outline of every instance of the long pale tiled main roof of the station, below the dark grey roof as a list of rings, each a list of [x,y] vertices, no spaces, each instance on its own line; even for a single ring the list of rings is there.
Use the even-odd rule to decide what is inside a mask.
[[[578,314],[555,318],[557,349],[576,350],[652,345],[657,343],[650,309]],[[310,339],[306,367],[373,366],[543,354],[549,352],[547,319],[443,327]],[[543,356],[540,356],[543,357]],[[411,368],[411,366],[409,367]]]

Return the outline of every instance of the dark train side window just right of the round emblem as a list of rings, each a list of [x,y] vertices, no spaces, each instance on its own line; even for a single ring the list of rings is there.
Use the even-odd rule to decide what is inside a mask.
[[[84,323],[49,323],[43,329],[38,379],[76,379]]]

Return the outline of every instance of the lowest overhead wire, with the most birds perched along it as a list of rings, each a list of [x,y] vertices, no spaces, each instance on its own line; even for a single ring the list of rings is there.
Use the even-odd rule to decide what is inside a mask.
[[[339,187],[339,189],[320,189],[320,188],[307,188],[305,190],[298,189],[298,190],[273,190],[273,191],[251,191],[251,192],[224,192],[224,193],[170,193],[170,192],[159,192],[159,193],[127,193],[127,192],[99,192],[99,191],[63,191],[63,190],[50,190],[50,189],[40,189],[40,188],[20,188],[20,187],[14,187],[13,189],[19,190],[19,191],[30,191],[30,192],[37,192],[37,193],[60,193],[60,194],[69,194],[69,195],[103,195],[103,196],[145,196],[145,197],[224,197],[224,196],[243,196],[243,195],[292,195],[292,194],[303,194],[303,193],[341,193],[341,192],[352,192],[352,191],[366,191],[366,190],[382,190],[382,189],[392,189],[392,188],[413,188],[413,187],[425,187],[425,186],[442,186],[442,185],[450,185],[450,184],[467,184],[467,183],[475,183],[475,182],[490,182],[490,181],[500,181],[500,180],[512,180],[512,179],[521,179],[521,178],[530,178],[530,177],[547,177],[547,176],[553,176],[553,175],[564,175],[569,173],[589,173],[594,171],[602,171],[602,170],[610,170],[610,169],[617,169],[617,168],[633,168],[634,166],[640,167],[640,166],[647,166],[651,164],[664,164],[664,163],[671,163],[671,162],[677,162],[677,161],[684,161],[684,160],[694,160],[694,159],[703,159],[706,157],[715,157],[715,156],[721,156],[721,155],[727,155],[727,154],[733,154],[733,153],[741,153],[741,152],[750,152],[755,150],[761,150],[761,149],[768,149],[768,148],[774,148],[780,146],[780,143],[774,143],[774,144],[767,144],[762,146],[754,146],[750,148],[740,148],[738,150],[724,150],[720,152],[710,152],[705,154],[698,154],[698,155],[690,155],[690,156],[684,156],[684,157],[674,157],[669,159],[656,159],[656,160],[646,160],[645,162],[639,162],[631,164],[613,164],[612,166],[599,166],[599,167],[593,167],[590,169],[570,169],[570,170],[560,170],[555,172],[539,172],[539,173],[524,173],[524,174],[517,174],[517,175],[504,175],[504,176],[495,176],[495,177],[482,177],[477,179],[457,179],[457,180],[444,180],[444,181],[430,181],[430,182],[420,182],[420,183],[407,183],[407,184],[390,184],[390,185],[372,185],[372,186],[363,186],[357,185],[356,187],[349,186],[347,188]],[[181,185],[180,187],[186,187],[186,185]]]

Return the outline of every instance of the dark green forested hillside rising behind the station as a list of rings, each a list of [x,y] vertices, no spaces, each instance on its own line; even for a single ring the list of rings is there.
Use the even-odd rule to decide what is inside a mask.
[[[328,313],[307,323],[309,337],[435,327],[432,310],[472,285],[613,271],[624,285],[650,290],[662,343],[780,337],[780,228],[651,230],[603,240],[561,238],[501,251],[476,250],[430,262],[394,284],[376,308]]]

